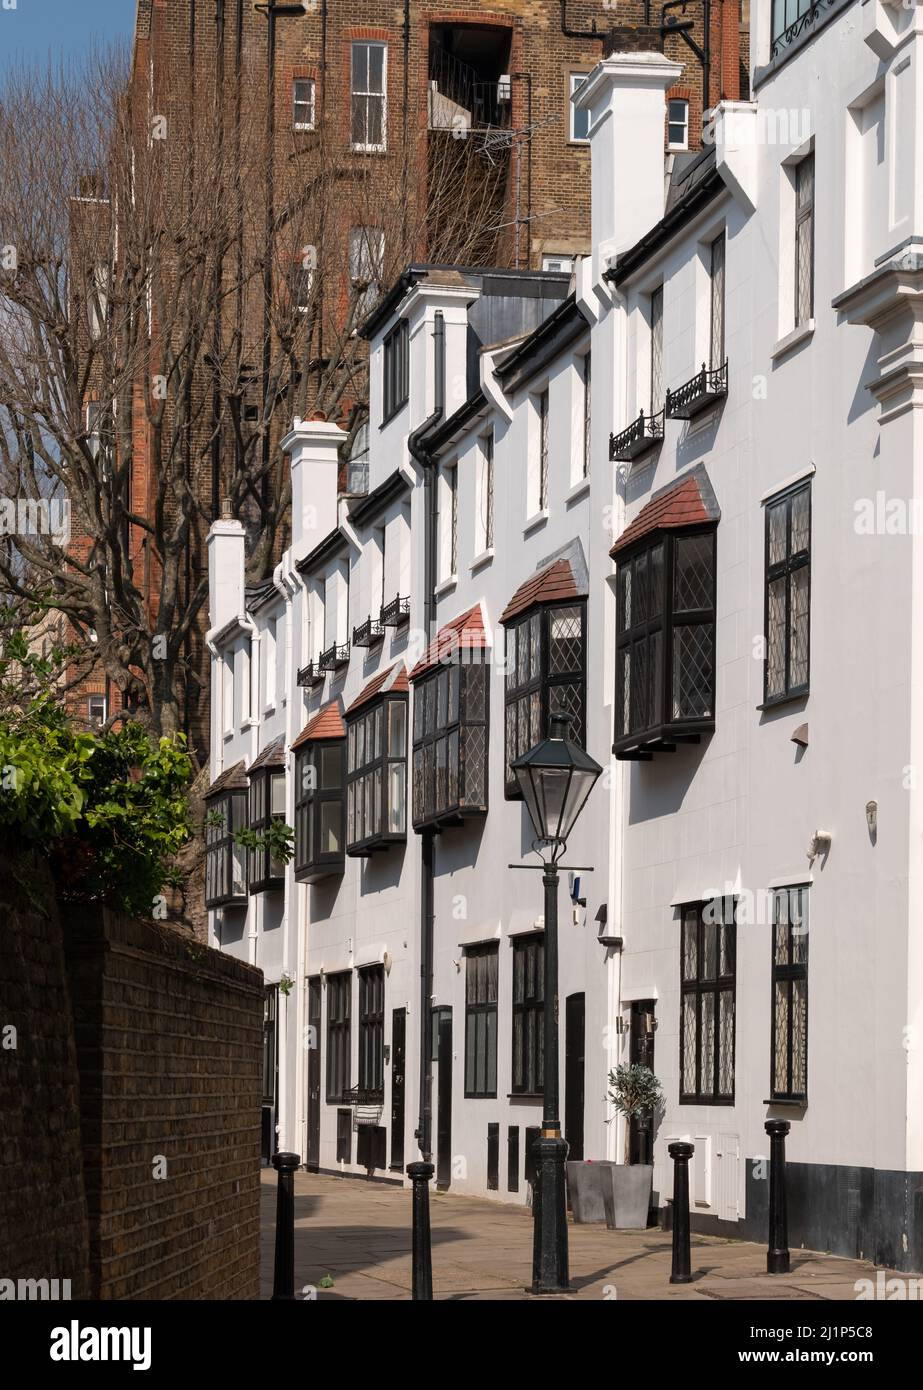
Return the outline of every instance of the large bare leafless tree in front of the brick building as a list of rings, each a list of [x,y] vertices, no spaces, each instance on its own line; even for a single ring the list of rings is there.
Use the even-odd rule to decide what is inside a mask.
[[[349,448],[382,289],[500,245],[506,167],[475,139],[413,133],[396,179],[320,128],[270,186],[259,95],[190,113],[179,78],[139,97],[107,53],[0,101],[0,587],[63,614],[156,733],[206,699],[214,516],[247,524],[261,578],[288,535],[278,441],[322,411]]]

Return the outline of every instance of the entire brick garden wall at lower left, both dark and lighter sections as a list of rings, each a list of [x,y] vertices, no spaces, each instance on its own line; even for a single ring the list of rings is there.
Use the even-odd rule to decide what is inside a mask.
[[[0,1279],[259,1297],[263,976],[0,856]],[[10,1047],[15,1029],[15,1048]]]

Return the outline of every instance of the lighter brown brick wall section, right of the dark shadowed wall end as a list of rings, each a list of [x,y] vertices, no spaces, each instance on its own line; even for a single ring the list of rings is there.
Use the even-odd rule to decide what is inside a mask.
[[[256,1298],[263,976],[68,913],[93,1295]]]

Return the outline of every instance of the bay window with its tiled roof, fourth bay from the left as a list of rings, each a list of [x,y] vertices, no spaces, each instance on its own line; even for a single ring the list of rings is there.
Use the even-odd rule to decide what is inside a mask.
[[[407,674],[377,676],[346,712],[346,853],[407,838]]]

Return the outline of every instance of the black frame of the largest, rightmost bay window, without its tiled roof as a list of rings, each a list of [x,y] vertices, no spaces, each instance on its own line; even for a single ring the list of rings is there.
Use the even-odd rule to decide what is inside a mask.
[[[676,580],[677,580],[677,546],[688,541],[710,538],[712,548],[712,605],[710,607],[677,609]],[[649,594],[655,571],[655,552],[662,552],[660,610],[645,610],[638,606],[637,595]],[[646,559],[646,578],[638,582],[638,564]],[[631,595],[628,595],[627,574],[631,570]],[[626,607],[628,609],[631,626],[626,627]],[[641,613],[635,619],[635,613]],[[646,613],[646,616],[645,616]],[[674,651],[676,634],[681,628],[710,627],[710,687],[708,713],[676,713],[677,691],[674,688]],[[660,635],[659,673],[656,667],[656,645],[653,637]],[[637,545],[624,550],[617,557],[616,574],[616,728],[613,752],[619,756],[639,755],[657,746],[671,748],[673,739],[701,738],[702,734],[714,730],[714,701],[716,701],[716,642],[717,642],[717,523],[706,525],[684,527],[683,530],[663,530],[645,535]],[[642,662],[638,652],[645,652]],[[627,660],[628,695],[626,696],[626,657]],[[635,695],[635,685],[631,684],[632,670],[642,667],[642,684],[648,687],[646,702],[644,694]],[[653,670],[653,674],[651,671]],[[687,691],[688,692],[688,691]],[[626,721],[626,706],[628,706],[628,720]],[[646,723],[644,716],[646,710]]]

